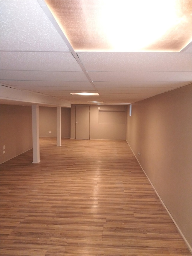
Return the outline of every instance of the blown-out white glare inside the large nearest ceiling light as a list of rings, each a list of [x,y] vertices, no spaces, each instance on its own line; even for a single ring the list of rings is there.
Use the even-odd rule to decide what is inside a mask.
[[[114,49],[142,50],[161,39],[179,22],[176,0],[116,1],[102,3],[100,29],[104,31]],[[114,14],[118,17],[114,18]]]

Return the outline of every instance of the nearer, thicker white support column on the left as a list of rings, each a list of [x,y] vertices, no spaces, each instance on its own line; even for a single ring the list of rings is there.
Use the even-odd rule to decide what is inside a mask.
[[[32,105],[33,164],[40,162],[39,150],[39,106]]]

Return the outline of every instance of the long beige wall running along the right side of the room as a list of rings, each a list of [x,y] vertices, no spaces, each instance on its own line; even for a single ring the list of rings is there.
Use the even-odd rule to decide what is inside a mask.
[[[192,247],[192,85],[132,104],[126,139]]]

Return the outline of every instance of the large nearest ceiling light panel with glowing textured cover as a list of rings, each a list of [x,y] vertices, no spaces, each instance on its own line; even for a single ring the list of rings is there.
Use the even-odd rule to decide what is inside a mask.
[[[179,52],[192,41],[191,0],[45,0],[75,51]]]

